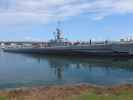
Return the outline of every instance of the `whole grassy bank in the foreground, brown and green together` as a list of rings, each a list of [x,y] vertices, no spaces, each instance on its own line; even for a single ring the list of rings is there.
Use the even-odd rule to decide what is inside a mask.
[[[0,100],[133,100],[133,85],[52,86],[0,91]]]

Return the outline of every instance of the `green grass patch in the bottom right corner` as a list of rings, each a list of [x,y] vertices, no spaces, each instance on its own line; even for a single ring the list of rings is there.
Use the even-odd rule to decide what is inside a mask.
[[[133,100],[133,93],[121,92],[117,95],[96,93],[84,93],[80,96],[73,96],[71,100]]]

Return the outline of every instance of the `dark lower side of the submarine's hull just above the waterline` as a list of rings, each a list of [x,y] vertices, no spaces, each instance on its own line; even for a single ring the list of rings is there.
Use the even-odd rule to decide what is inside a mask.
[[[4,52],[12,53],[28,53],[28,54],[45,54],[45,55],[80,55],[80,56],[97,56],[97,57],[133,57],[128,52],[92,52],[83,50],[71,49],[42,49],[42,48],[26,48],[26,49],[4,49]]]

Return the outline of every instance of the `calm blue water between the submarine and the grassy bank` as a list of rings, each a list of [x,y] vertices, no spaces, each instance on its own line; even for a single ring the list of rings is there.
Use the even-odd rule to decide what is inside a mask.
[[[80,83],[133,83],[133,59],[0,52],[0,88]]]

